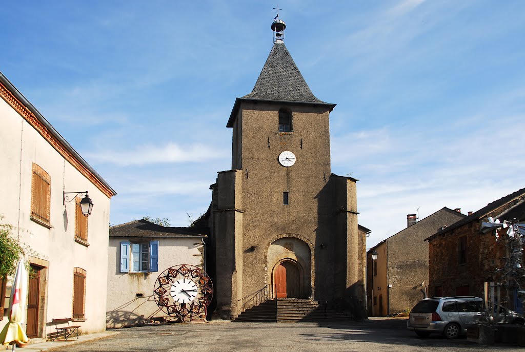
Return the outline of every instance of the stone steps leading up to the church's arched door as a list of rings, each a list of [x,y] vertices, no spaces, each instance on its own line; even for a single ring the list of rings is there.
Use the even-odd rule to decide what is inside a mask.
[[[346,318],[309,298],[279,298],[277,304],[275,300],[268,300],[244,311],[234,322],[318,322]]]

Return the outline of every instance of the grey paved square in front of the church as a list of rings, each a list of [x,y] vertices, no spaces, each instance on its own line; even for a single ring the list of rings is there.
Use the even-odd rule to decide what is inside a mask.
[[[120,334],[56,351],[517,351],[518,346],[479,346],[466,338],[418,338],[406,319],[363,323],[204,323],[117,329]]]

